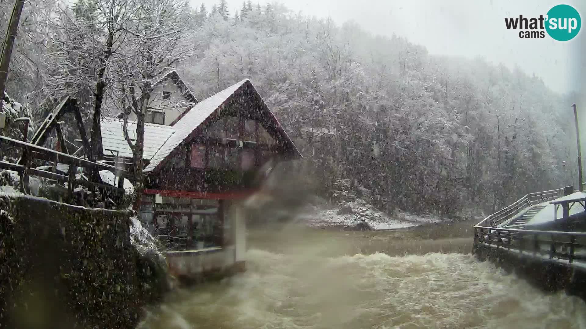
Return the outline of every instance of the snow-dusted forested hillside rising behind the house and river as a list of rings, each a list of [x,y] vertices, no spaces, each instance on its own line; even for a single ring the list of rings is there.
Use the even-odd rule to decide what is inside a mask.
[[[45,10],[33,5],[25,12]],[[75,9],[63,11],[80,15]],[[172,66],[200,100],[250,78],[314,165],[322,196],[349,179],[370,190],[379,206],[450,215],[492,211],[576,180],[574,100],[539,77],[481,58],[432,56],[401,37],[374,36],[354,23],[339,26],[280,5],[248,2],[235,10],[222,2],[189,10],[192,44]],[[53,16],[22,19],[36,30],[19,32],[11,63],[9,94],[36,109],[37,119],[48,96],[73,92],[54,85],[64,76],[60,61],[72,60],[55,55],[59,43],[51,38],[64,23]],[[78,49],[69,47],[71,54]],[[95,78],[96,71],[84,74]],[[107,74],[115,81],[127,73]],[[112,85],[106,112],[116,111],[117,100],[108,100],[119,95]],[[87,117],[92,110],[87,102]]]

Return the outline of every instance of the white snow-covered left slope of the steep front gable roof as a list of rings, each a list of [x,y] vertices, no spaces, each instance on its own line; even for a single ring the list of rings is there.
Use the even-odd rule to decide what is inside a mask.
[[[159,163],[161,163],[184,139],[186,139],[197,126],[210,116],[224,101],[226,101],[234,92],[246,83],[248,79],[233,84],[230,87],[218,92],[212,97],[206,98],[197,103],[183,118],[174,126],[176,132],[167,139],[165,144],[152,157],[151,163],[145,168],[145,172],[151,172]]]

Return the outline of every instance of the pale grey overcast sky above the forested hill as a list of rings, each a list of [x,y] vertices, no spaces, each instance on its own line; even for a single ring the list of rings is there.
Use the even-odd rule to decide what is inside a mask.
[[[202,0],[192,0],[199,4]],[[227,0],[230,13],[242,0]],[[203,0],[207,8],[218,1]],[[253,0],[253,4],[258,1]],[[264,5],[266,1],[261,1]],[[273,1],[271,1],[273,2]],[[518,31],[505,28],[505,18],[522,14],[539,17],[558,4],[574,6],[586,19],[584,1],[564,0],[280,0],[294,12],[331,17],[338,23],[354,20],[364,29],[380,35],[393,33],[421,44],[432,54],[482,56],[510,68],[518,65],[536,74],[557,92],[580,91],[586,87],[586,65],[579,56],[586,50],[586,28],[568,42],[520,39]]]

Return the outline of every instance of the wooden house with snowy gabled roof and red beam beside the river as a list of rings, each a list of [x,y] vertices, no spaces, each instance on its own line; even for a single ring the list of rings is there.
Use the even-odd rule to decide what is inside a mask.
[[[197,102],[175,77],[165,88],[175,85],[192,104],[163,108],[163,124],[145,124],[140,220],[167,246],[179,275],[241,268],[246,227],[239,204],[254,193],[264,163],[301,154],[250,80]],[[104,155],[129,163],[121,119],[105,118],[102,138]]]

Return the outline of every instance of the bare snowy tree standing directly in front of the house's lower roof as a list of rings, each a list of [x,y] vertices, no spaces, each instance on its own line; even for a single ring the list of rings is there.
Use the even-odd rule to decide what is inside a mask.
[[[124,137],[132,150],[135,190],[142,193],[145,115],[151,110],[155,82],[178,62],[193,54],[196,45],[189,32],[189,5],[173,0],[142,0],[134,15],[120,28],[125,33],[125,52],[118,54],[117,106],[124,113]],[[137,118],[136,139],[128,133],[128,115]]]

